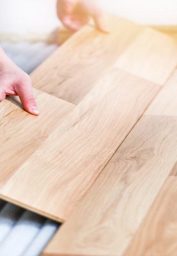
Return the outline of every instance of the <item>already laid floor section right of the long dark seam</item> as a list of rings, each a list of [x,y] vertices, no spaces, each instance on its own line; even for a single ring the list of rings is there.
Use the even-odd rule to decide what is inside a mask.
[[[174,98],[177,71],[43,255],[176,255],[177,109],[170,105]]]

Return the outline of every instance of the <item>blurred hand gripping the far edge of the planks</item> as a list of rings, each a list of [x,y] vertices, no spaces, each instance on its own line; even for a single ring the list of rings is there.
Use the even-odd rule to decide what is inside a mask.
[[[57,0],[57,16],[63,25],[72,31],[87,24],[92,17],[98,30],[109,32],[96,0]]]

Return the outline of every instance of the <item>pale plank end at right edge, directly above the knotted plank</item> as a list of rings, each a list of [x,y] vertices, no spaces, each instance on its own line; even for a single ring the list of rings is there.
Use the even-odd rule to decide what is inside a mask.
[[[177,116],[177,70],[153,100],[146,114]]]

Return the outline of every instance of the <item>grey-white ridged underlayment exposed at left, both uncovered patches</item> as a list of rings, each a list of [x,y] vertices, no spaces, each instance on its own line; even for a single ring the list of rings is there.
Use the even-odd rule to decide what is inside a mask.
[[[30,74],[57,48],[45,43],[1,43],[6,54]],[[0,200],[0,256],[38,256],[59,223]]]

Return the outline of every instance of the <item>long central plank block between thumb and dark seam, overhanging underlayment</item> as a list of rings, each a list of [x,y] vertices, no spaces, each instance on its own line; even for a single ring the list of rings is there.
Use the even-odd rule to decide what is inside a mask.
[[[158,91],[158,85],[111,70],[6,182],[1,197],[68,219]]]

